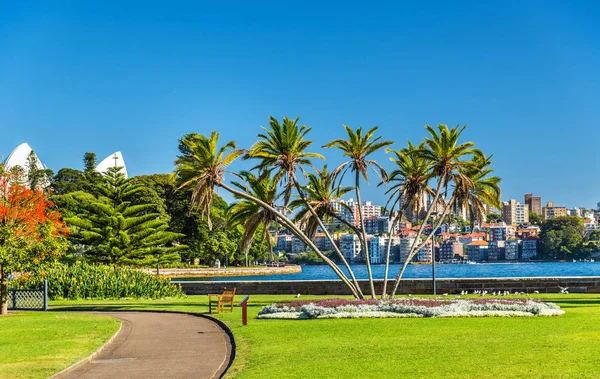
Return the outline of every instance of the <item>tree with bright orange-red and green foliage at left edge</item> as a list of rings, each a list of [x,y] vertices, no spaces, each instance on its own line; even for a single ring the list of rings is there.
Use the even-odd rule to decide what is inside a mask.
[[[68,229],[41,189],[30,190],[0,170],[0,315],[5,315],[10,273],[60,257]]]

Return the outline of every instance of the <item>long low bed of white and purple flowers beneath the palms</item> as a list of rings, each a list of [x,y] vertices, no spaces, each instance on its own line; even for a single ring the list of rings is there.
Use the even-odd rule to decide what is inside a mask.
[[[561,316],[554,303],[534,299],[392,299],[302,300],[263,307],[258,318],[405,318],[405,317],[534,317]]]

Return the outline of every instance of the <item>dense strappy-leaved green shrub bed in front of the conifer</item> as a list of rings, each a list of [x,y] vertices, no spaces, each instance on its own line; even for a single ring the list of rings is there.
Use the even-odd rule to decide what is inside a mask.
[[[119,299],[181,297],[179,284],[127,267],[91,266],[86,263],[56,265],[10,282],[12,288],[41,288],[48,278],[48,297],[57,299]]]

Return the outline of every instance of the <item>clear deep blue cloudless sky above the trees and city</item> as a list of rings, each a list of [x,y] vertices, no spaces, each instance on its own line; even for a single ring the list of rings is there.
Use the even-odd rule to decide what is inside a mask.
[[[170,172],[188,132],[248,147],[270,114],[318,146],[467,124],[504,199],[595,207],[600,5],[417,3],[0,2],[0,152],[26,141],[58,171],[121,150],[138,175]]]

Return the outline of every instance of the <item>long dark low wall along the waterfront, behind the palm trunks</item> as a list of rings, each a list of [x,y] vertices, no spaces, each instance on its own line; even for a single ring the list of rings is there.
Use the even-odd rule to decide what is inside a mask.
[[[364,293],[369,291],[366,280],[359,281]],[[375,281],[378,294],[382,290],[382,280]],[[223,288],[237,288],[244,295],[350,295],[350,291],[339,280],[299,280],[299,281],[221,281],[221,282],[181,282],[188,295],[221,293]],[[388,288],[393,281],[388,283]],[[510,291],[533,293],[557,293],[559,287],[568,287],[571,293],[600,293],[600,277],[554,277],[554,278],[478,278],[478,279],[438,279],[437,293],[457,294],[474,290]],[[431,279],[404,279],[398,294],[431,294]]]

